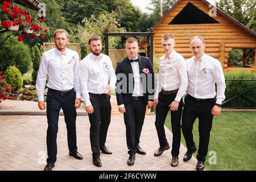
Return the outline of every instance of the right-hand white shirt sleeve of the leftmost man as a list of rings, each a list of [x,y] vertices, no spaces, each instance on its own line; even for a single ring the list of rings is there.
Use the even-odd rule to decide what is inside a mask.
[[[75,91],[76,91],[76,98],[81,98],[80,93],[80,60],[79,60],[79,54],[76,53],[75,55],[75,66],[74,66],[74,85],[75,85]]]

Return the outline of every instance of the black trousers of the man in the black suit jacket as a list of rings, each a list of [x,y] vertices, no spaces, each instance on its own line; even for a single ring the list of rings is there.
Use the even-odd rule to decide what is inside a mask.
[[[123,114],[126,127],[126,143],[130,155],[136,153],[135,146],[139,144],[141,137],[142,126],[144,123],[146,104],[144,98],[140,100],[131,99],[129,104],[125,106],[125,113]]]

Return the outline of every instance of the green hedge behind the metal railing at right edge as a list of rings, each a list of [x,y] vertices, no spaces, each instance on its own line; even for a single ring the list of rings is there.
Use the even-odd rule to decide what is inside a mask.
[[[224,75],[226,79],[256,80],[256,74],[254,72],[249,72],[249,71],[234,70],[234,71],[226,72],[224,73]],[[233,88],[234,90],[237,90],[237,92],[240,92],[240,93],[251,88],[255,84],[256,84],[256,81],[226,81],[226,85],[230,86],[231,88]],[[226,101],[238,95],[236,91],[228,88],[228,86],[225,91]],[[255,100],[256,88],[249,90],[244,95],[250,98],[251,100],[256,101]],[[234,100],[231,100],[226,104],[223,104],[223,106],[225,107],[256,107],[254,102],[247,100],[247,98],[243,96],[234,98]]]

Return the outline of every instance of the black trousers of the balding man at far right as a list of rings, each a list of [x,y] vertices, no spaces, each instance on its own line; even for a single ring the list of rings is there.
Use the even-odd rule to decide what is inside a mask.
[[[216,102],[215,98],[196,100],[192,96],[185,97],[185,106],[182,115],[181,129],[189,151],[196,148],[193,140],[193,124],[199,118],[199,150],[197,160],[205,161],[208,153],[210,130],[212,129],[212,108]]]

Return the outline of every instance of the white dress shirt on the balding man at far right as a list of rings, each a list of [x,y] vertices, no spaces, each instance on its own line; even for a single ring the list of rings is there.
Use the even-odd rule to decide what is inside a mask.
[[[188,72],[188,94],[195,98],[214,98],[216,96],[215,83],[217,83],[216,103],[222,104],[225,100],[225,78],[221,63],[207,55],[201,61],[195,61],[195,56],[186,62]]]

